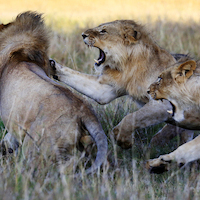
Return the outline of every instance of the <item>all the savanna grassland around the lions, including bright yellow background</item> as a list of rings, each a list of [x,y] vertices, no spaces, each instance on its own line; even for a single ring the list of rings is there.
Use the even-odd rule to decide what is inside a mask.
[[[98,50],[84,45],[81,32],[114,19],[134,19],[146,24],[161,47],[172,53],[189,53],[195,59],[200,57],[198,0],[0,0],[0,21],[8,22],[25,10],[44,13],[52,30],[50,57],[86,73],[94,73],[93,59],[98,57]],[[81,98],[92,104],[108,136],[108,162],[97,174],[73,178],[53,166],[37,173],[20,153],[17,157],[1,157],[0,199],[200,199],[197,164],[184,169],[174,167],[160,175],[149,174],[145,169],[145,160],[179,145],[179,138],[174,138],[164,146],[148,149],[152,136],[163,124],[136,131],[135,145],[123,150],[110,133],[127,113],[135,110],[131,99],[123,97],[101,106]],[[1,129],[5,134],[3,124]]]

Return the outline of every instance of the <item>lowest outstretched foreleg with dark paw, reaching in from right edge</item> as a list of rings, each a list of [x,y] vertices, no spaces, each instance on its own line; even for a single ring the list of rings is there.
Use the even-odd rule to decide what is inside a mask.
[[[170,154],[147,161],[146,167],[151,173],[162,173],[170,169],[170,164],[176,162],[179,167],[200,159],[200,135],[187,142]]]

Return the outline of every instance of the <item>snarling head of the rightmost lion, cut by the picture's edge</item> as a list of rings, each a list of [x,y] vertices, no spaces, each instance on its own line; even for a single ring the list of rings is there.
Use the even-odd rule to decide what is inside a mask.
[[[155,100],[167,99],[173,106],[173,118],[182,127],[199,126],[199,79],[192,78],[196,62],[188,60],[175,64],[160,74],[150,85],[148,93]],[[194,76],[193,76],[194,77]],[[191,113],[193,113],[191,115]],[[197,117],[196,119],[195,116]]]

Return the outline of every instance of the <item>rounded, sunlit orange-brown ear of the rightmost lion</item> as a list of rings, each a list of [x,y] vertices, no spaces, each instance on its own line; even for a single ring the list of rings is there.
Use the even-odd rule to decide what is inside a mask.
[[[174,74],[174,79],[176,82],[181,83],[192,76],[193,71],[196,69],[196,62],[194,60],[189,60],[178,66]]]

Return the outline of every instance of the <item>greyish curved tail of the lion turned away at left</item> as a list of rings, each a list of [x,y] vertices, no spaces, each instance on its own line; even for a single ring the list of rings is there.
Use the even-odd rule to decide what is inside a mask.
[[[90,118],[85,117],[84,119],[82,119],[82,121],[86,129],[94,139],[97,146],[96,159],[92,164],[92,166],[86,170],[86,174],[89,174],[98,169],[106,160],[108,143],[107,143],[107,137],[101,127],[101,124],[98,122],[98,119],[94,114],[92,114],[92,117]]]

